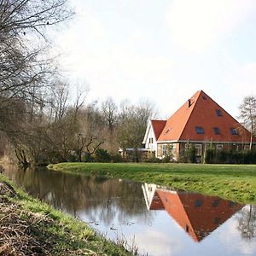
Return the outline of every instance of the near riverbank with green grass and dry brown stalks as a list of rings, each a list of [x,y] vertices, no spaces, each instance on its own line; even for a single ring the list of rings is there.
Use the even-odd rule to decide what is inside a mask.
[[[14,188],[14,189],[13,189]],[[0,255],[131,255],[0,174]]]

